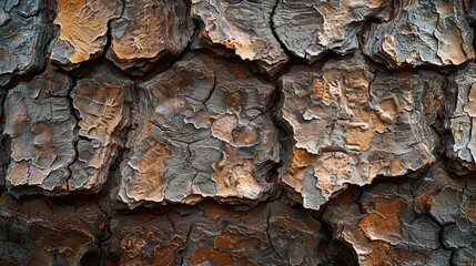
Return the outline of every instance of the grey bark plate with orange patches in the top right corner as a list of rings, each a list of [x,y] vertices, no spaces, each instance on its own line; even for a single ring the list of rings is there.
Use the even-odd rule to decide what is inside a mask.
[[[394,18],[372,23],[364,53],[389,69],[458,65],[475,58],[462,0],[398,0]]]

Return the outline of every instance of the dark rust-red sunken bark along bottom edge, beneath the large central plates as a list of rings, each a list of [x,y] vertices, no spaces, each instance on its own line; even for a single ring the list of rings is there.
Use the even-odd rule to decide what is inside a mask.
[[[246,211],[206,203],[156,217],[138,213],[113,219],[111,249],[123,265],[316,265],[323,255],[320,227],[278,201]]]

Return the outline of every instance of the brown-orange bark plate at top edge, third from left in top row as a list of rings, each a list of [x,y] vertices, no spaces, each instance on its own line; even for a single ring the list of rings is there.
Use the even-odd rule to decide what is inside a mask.
[[[193,23],[185,1],[128,0],[121,18],[111,22],[107,57],[122,70],[148,71],[152,63],[185,49]]]

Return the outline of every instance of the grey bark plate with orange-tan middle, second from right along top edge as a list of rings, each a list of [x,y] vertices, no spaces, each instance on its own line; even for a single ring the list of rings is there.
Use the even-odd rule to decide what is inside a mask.
[[[273,29],[290,52],[312,63],[331,51],[357,49],[364,22],[387,20],[391,8],[386,0],[280,0]]]

